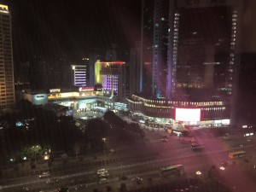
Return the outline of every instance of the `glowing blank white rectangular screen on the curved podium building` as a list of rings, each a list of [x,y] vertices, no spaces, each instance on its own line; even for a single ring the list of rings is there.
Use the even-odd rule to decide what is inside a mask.
[[[200,121],[200,108],[176,108],[175,120],[177,121]]]

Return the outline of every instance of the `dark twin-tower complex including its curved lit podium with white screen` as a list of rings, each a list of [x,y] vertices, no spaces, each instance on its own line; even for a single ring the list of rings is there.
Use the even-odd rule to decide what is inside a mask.
[[[129,110],[173,127],[234,125],[242,3],[143,0],[144,94],[127,99]]]

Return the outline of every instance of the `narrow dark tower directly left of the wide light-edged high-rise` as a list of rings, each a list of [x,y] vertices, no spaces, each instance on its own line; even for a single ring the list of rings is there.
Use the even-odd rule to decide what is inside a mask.
[[[166,93],[168,0],[143,0],[141,62],[143,93],[160,97]]]

